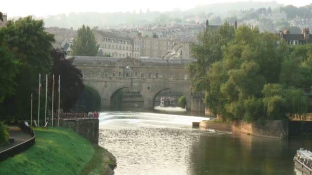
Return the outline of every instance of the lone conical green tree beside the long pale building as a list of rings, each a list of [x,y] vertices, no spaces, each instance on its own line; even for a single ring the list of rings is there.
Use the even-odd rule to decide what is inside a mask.
[[[97,45],[89,26],[79,28],[71,46],[71,55],[96,56],[100,45]]]

